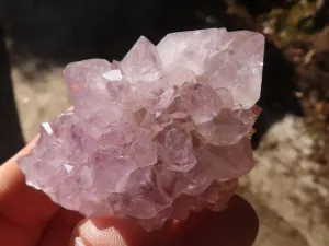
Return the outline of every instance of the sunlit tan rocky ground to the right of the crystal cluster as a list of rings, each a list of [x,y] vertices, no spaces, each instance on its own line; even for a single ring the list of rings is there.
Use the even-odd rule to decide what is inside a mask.
[[[256,245],[329,245],[329,168],[311,161],[314,147],[303,118],[287,115],[254,151],[240,194],[260,218]]]

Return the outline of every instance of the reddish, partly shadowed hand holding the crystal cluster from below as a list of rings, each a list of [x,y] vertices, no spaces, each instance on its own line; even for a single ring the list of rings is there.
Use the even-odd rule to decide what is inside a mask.
[[[215,213],[192,213],[184,222],[168,221],[162,230],[146,233],[131,221],[84,219],[60,208],[42,191],[25,185],[18,157],[36,139],[0,167],[0,242],[2,246],[250,246],[258,232],[252,207],[235,196]]]

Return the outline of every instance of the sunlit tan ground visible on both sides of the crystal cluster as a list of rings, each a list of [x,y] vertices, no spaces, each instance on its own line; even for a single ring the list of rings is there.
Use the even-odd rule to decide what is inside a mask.
[[[26,140],[37,133],[42,121],[69,106],[61,70],[54,68],[26,79],[22,68],[13,68],[15,99]],[[256,167],[242,178],[239,189],[259,215],[254,245],[329,245],[329,168],[311,159],[318,144],[321,143],[315,141],[303,118],[287,115],[271,127],[254,151]]]

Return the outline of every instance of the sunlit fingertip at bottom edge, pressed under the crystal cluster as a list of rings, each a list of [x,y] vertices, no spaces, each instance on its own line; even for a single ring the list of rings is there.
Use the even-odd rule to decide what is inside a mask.
[[[143,231],[128,220],[95,218],[81,221],[75,229],[71,246],[136,246]]]

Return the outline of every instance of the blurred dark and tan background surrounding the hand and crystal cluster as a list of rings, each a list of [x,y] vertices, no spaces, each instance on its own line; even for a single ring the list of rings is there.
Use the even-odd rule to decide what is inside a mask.
[[[0,163],[69,106],[66,63],[203,27],[266,36],[256,168],[239,188],[256,245],[328,246],[328,0],[0,0]]]

